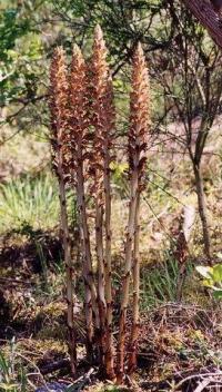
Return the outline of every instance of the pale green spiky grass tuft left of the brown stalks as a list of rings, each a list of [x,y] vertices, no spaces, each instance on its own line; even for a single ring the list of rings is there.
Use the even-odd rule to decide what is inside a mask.
[[[0,233],[31,226],[53,228],[59,222],[57,179],[26,176],[0,185]]]

